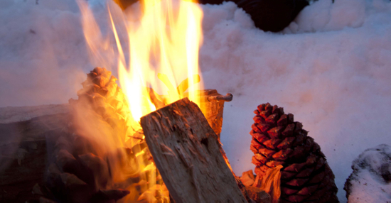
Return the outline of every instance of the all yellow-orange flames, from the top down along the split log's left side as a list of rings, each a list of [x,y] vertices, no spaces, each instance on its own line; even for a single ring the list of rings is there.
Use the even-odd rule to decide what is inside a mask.
[[[116,165],[119,171],[114,173],[113,181],[118,185],[118,182],[126,182],[130,176],[140,174],[142,180],[136,185],[144,188],[144,193],[139,197],[128,197],[124,200],[127,202],[146,196],[146,199],[154,199],[151,196],[158,193],[167,195],[163,190],[165,187],[155,184],[159,174],[156,176],[154,164],[146,158],[149,150],[143,147],[145,142],[139,120],[156,107],[161,107],[156,102],[165,105],[188,97],[200,106],[196,90],[203,89],[198,67],[203,12],[192,1],[144,0],[133,6],[141,9],[133,8],[134,12],[124,13],[117,4],[108,0],[107,18],[111,30],[108,36],[114,36],[110,38],[104,37],[102,30],[105,29],[98,26],[86,1],[77,3],[92,62],[109,70],[116,68],[119,84],[124,97],[127,97],[127,104],[114,107],[122,109],[119,117],[124,121],[122,130],[117,134],[126,135],[118,135],[124,140],[112,148],[132,148],[132,161],[137,163],[137,167],[129,165],[124,169]],[[141,15],[136,11],[141,11]],[[149,175],[146,175],[148,172]],[[134,188],[136,186],[127,187],[131,194],[134,194]]]

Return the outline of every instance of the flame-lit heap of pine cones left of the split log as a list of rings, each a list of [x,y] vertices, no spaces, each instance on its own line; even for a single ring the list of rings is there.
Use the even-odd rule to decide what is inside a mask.
[[[60,136],[46,177],[49,197],[57,202],[164,201],[163,182],[151,163],[140,129],[132,128],[127,97],[105,68],[87,74],[78,99],[70,99],[71,136]],[[154,177],[151,179],[151,177]],[[147,185],[146,182],[149,182]],[[149,197],[152,196],[152,197]]]

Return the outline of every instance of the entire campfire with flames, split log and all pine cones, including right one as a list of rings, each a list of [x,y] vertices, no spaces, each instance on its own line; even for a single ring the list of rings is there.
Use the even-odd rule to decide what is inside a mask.
[[[203,87],[198,4],[144,0],[129,16],[110,1],[105,33],[77,2],[91,62],[105,67],[87,73],[70,123],[48,138],[40,202],[338,202],[320,147],[278,106],[255,111],[256,177],[232,171],[220,143],[232,94]]]

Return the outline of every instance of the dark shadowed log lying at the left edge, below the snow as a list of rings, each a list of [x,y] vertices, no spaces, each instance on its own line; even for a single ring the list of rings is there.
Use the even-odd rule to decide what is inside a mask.
[[[43,183],[48,150],[53,150],[46,143],[66,133],[63,129],[69,122],[69,114],[54,114],[0,124],[0,202],[26,202],[40,197],[32,190],[37,183]]]

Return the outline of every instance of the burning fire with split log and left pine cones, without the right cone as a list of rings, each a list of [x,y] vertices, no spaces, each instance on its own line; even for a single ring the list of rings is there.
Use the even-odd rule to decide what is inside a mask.
[[[55,199],[246,202],[219,139],[223,103],[232,94],[204,90],[198,70],[198,5],[142,1],[141,19],[132,22],[109,4],[113,47],[92,11],[82,1],[79,6],[91,57],[117,65],[120,87],[111,71],[96,67],[77,92],[79,99],[70,100],[75,136],[59,138],[57,165],[48,170]],[[114,56],[101,57],[105,50]],[[231,189],[218,190],[223,182]]]

